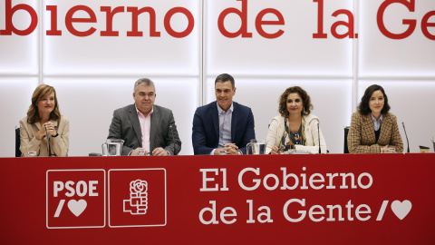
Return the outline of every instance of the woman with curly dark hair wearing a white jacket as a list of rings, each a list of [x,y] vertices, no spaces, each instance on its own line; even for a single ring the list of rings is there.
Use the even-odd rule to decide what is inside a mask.
[[[324,135],[319,131],[319,118],[311,113],[311,98],[299,86],[289,87],[281,94],[279,113],[270,122],[266,153],[279,154],[281,146],[297,151],[318,153],[319,138],[322,153],[326,152]],[[296,134],[297,133],[297,134]],[[295,136],[296,135],[296,136]]]

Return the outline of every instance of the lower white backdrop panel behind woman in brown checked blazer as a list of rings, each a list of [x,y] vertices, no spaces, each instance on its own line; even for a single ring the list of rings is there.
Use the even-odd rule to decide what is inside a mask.
[[[430,137],[435,136],[435,81],[381,81],[380,84],[387,93],[390,112],[397,116],[404,151],[407,144],[401,122],[405,123],[410,140],[411,152],[420,152],[419,145],[430,146]],[[362,98],[365,89],[372,81],[361,81],[358,85],[358,98]],[[430,148],[430,152],[433,149]]]

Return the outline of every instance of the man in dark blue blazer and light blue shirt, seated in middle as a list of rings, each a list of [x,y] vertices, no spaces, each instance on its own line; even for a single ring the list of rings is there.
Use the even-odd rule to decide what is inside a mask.
[[[198,107],[193,117],[195,155],[246,154],[247,143],[256,138],[251,108],[233,102],[234,78],[223,73],[215,80],[216,101]]]

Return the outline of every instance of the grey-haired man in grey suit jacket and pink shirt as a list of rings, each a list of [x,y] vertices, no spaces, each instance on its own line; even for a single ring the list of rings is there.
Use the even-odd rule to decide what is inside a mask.
[[[177,155],[181,150],[179,132],[172,111],[154,104],[156,89],[148,78],[134,83],[134,104],[113,112],[108,139],[122,139],[121,155],[152,152],[152,155]]]

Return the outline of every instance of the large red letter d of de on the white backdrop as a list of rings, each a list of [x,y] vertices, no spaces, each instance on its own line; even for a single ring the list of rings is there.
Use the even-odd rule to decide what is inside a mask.
[[[221,34],[225,35],[228,38],[235,38],[239,36],[240,34],[242,37],[252,37],[252,33],[247,32],[247,0],[237,0],[242,2],[242,11],[238,10],[237,8],[230,7],[226,10],[222,11],[218,17],[218,28]],[[229,14],[236,14],[240,17],[240,20],[242,21],[242,25],[240,26],[240,29],[236,33],[230,33],[227,31],[224,25],[225,17]]]

